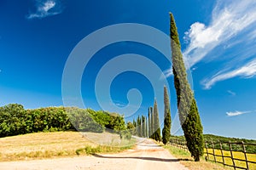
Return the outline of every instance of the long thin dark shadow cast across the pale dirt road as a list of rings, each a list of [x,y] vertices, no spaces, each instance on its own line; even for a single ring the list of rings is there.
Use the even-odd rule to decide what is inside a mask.
[[[156,158],[156,157],[143,157],[143,156],[101,156],[98,154],[93,154],[92,156],[96,156],[99,158],[107,158],[107,159],[140,159],[146,161],[167,161],[167,162],[175,162],[175,161],[191,161],[189,159],[164,159],[164,158]]]

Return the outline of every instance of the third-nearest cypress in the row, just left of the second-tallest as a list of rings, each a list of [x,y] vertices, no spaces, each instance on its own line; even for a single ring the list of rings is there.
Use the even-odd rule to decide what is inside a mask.
[[[156,141],[160,141],[161,140],[161,132],[160,132],[160,122],[159,122],[159,114],[158,114],[156,99],[154,99],[153,115],[154,115],[154,129],[155,129],[154,139]]]

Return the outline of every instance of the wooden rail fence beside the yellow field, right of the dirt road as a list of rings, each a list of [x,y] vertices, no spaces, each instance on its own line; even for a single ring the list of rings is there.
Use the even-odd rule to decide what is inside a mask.
[[[181,139],[171,139],[170,144],[189,151],[186,141]],[[225,148],[224,149],[224,144]],[[247,153],[246,146],[256,146],[256,144],[245,144],[244,142],[205,142],[206,161],[215,161],[224,166],[236,169],[256,169],[256,153]],[[236,148],[236,150],[234,150]],[[239,150],[240,149],[240,150]],[[248,159],[248,157],[253,157]]]

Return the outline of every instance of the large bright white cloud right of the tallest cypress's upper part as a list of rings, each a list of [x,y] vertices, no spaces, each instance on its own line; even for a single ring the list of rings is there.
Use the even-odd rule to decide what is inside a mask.
[[[190,66],[195,65],[214,48],[236,37],[238,33],[255,23],[255,7],[254,0],[218,1],[212,11],[209,26],[199,22],[190,26],[184,37],[189,45],[183,52]]]

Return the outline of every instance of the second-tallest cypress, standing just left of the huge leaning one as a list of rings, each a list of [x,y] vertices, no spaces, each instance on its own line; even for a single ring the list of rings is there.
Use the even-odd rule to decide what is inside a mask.
[[[163,134],[163,143],[167,144],[171,138],[171,111],[170,111],[170,100],[167,92],[166,86],[164,87],[164,104],[165,104],[165,119],[164,119],[164,128],[162,131]]]

